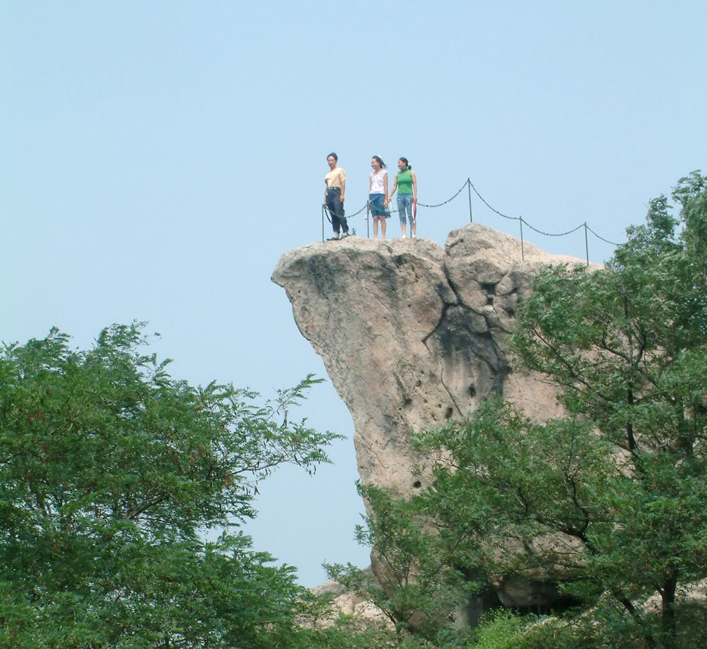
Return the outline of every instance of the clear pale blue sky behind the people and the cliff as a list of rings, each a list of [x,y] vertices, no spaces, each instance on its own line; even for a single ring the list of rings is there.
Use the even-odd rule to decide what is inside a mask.
[[[349,214],[371,156],[391,170],[405,156],[421,203],[469,178],[541,231],[586,222],[624,241],[652,197],[707,171],[705,25],[697,0],[0,0],[0,340],[57,326],[87,348],[148,321],[192,384],[268,398],[326,378],[270,275],[322,238],[330,151]],[[520,235],[476,195],[472,214]],[[421,207],[418,236],[443,246],[468,221],[464,191]],[[583,229],[523,235],[585,255]],[[614,246],[590,233],[588,248],[602,262]],[[245,529],[313,586],[322,561],[363,566],[368,550],[353,540],[354,425],[330,381],[299,416],[348,439],[316,476],[262,483]]]

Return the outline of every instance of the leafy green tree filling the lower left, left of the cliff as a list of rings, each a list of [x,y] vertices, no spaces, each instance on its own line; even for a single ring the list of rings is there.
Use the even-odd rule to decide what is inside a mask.
[[[295,647],[310,598],[247,536],[260,480],[314,471],[339,438],[288,412],[189,386],[141,350],[143,326],[92,349],[52,330],[0,357],[0,647]]]

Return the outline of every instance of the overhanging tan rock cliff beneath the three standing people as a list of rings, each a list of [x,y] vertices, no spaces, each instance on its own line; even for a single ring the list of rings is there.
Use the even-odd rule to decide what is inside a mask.
[[[354,418],[358,473],[401,496],[423,488],[409,431],[460,418],[493,394],[544,420],[559,415],[539,377],[511,372],[505,348],[518,303],[549,255],[485,226],[426,239],[349,237],[282,256],[300,331]]]

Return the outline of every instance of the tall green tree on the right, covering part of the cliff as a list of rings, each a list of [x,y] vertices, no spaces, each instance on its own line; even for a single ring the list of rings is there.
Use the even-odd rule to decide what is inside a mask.
[[[707,577],[706,178],[672,197],[679,218],[653,200],[602,270],[549,267],[522,305],[516,367],[559,388],[566,418],[489,402],[418,438],[444,451],[419,506],[449,561],[564,580],[594,604],[597,646],[695,646],[703,627],[677,595]]]

